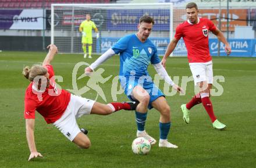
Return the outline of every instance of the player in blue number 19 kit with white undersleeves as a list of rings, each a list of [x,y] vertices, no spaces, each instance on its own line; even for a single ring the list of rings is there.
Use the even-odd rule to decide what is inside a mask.
[[[86,67],[85,73],[93,72],[106,59],[120,53],[120,83],[128,98],[138,102],[136,108],[137,137],[144,137],[150,141],[151,145],[157,142],[147,134],[144,128],[147,110],[155,108],[161,113],[159,120],[159,147],[177,148],[176,145],[167,141],[171,126],[170,107],[166,102],[165,95],[152,82],[152,78],[147,71],[148,65],[151,63],[159,76],[175,90],[178,92],[183,92],[183,90],[170,79],[161,65],[157,48],[148,40],[153,24],[154,19],[152,17],[142,16],[138,24],[138,32],[120,38],[112,48],[108,49],[89,67]]]

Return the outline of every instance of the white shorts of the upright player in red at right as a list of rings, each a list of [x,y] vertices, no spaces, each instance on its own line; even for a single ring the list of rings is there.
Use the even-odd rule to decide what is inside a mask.
[[[214,73],[212,72],[212,61],[209,62],[193,62],[189,63],[190,70],[192,72],[194,83],[201,81],[207,81],[208,84],[212,84],[214,80]]]

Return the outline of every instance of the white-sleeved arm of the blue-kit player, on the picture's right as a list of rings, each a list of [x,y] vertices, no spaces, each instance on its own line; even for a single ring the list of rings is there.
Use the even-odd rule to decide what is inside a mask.
[[[176,91],[182,92],[182,94],[184,93],[181,87],[173,83],[172,79],[170,78],[170,76],[168,75],[168,73],[166,72],[165,68],[162,66],[161,63],[153,64],[153,66],[157,71],[158,75],[161,76],[166,83],[172,86],[172,88],[174,88]]]

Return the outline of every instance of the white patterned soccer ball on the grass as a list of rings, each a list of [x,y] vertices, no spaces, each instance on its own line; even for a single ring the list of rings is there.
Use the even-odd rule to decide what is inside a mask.
[[[138,137],[131,144],[131,149],[133,149],[133,153],[139,155],[146,155],[150,152],[150,142],[143,137]]]

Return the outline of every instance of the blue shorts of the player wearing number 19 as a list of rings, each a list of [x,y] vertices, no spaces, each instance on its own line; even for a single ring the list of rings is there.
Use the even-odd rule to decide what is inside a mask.
[[[126,96],[131,100],[131,101],[137,101],[136,99],[133,98],[132,91],[133,88],[136,87],[137,85],[140,85],[141,87],[144,88],[150,95],[150,102],[148,103],[148,109],[152,109],[151,103],[154,102],[157,98],[164,96],[165,95],[162,93],[161,90],[155,85],[152,81],[141,81],[138,78],[135,78],[134,81],[129,81],[129,78],[126,78],[126,83],[124,81],[121,81],[121,85],[123,89],[125,90]]]

